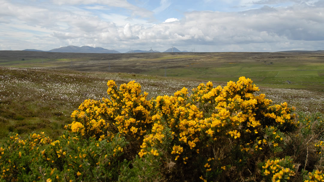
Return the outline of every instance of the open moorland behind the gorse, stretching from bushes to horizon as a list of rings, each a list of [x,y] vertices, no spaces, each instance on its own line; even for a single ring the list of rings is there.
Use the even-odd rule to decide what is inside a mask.
[[[324,113],[323,52],[91,54],[0,51],[1,136],[45,131],[58,136],[85,99],[106,96],[106,82],[139,82],[149,98],[201,82],[245,76],[274,103]],[[165,77],[166,76],[166,77]]]

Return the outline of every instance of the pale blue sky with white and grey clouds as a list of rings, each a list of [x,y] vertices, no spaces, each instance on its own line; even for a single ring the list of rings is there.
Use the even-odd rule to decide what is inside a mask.
[[[0,50],[324,50],[324,0],[0,0]]]

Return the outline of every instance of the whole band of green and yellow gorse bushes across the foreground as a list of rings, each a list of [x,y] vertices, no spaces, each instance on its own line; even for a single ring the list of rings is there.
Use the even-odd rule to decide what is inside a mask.
[[[59,140],[12,134],[1,181],[321,181],[321,115],[272,104],[252,80],[200,84],[147,100],[135,81],[108,81]],[[323,180],[324,181],[324,180]]]

